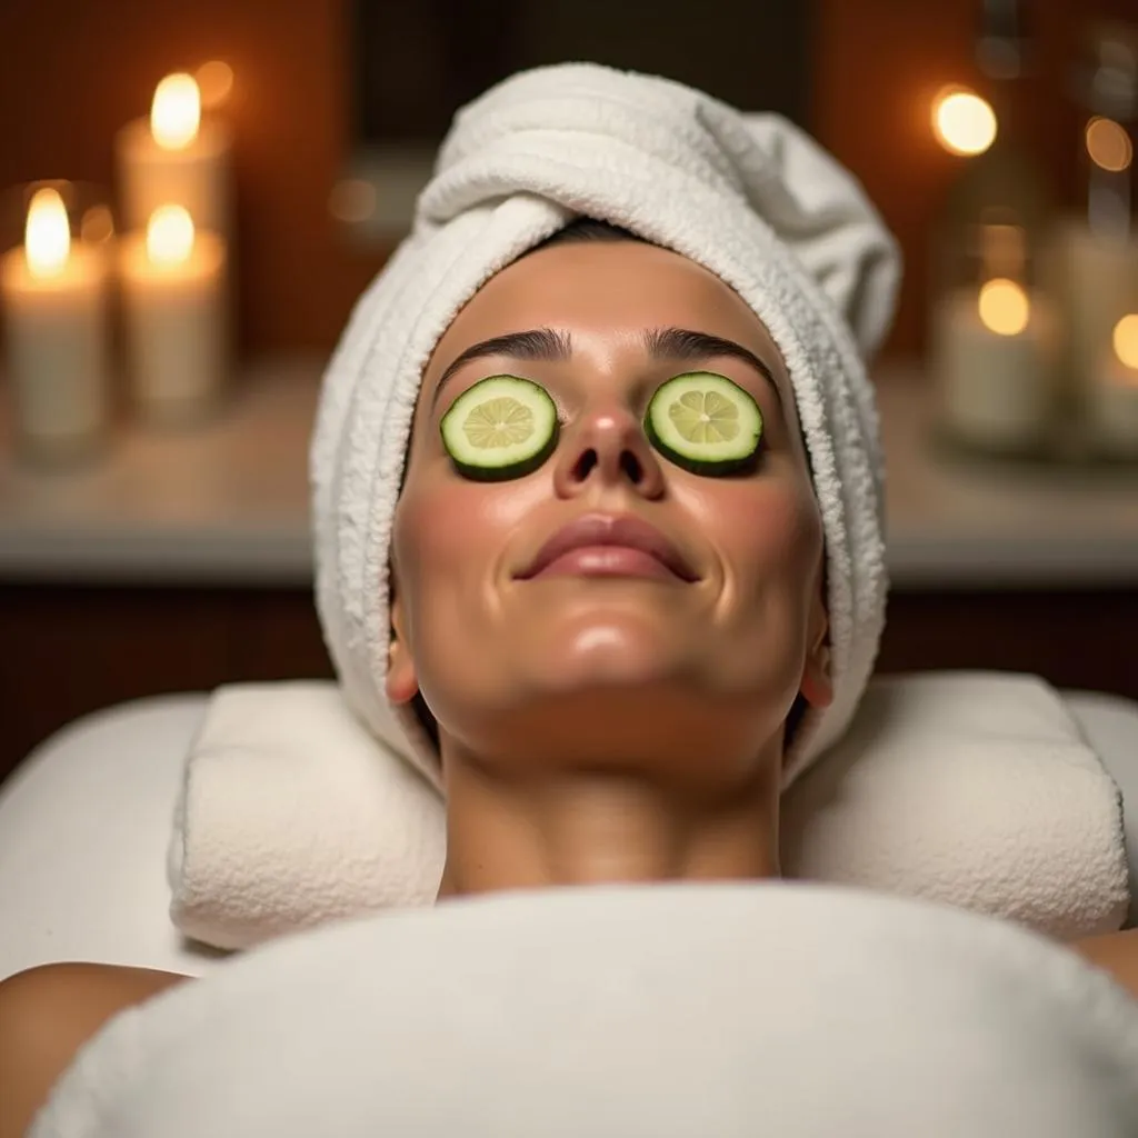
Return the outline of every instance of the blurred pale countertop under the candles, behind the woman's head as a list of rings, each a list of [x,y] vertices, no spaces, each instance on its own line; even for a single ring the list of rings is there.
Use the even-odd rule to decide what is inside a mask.
[[[214,421],[123,428],[86,465],[18,460],[0,385],[0,577],[307,585],[307,440],[322,361],[264,362]],[[899,588],[1138,586],[1138,470],[978,463],[932,442],[929,385],[877,381]]]

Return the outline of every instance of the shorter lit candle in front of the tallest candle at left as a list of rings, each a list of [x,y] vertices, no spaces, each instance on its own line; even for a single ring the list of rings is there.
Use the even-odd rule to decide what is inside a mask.
[[[225,242],[159,206],[119,249],[126,352],[137,404],[152,420],[195,418],[226,371]]]

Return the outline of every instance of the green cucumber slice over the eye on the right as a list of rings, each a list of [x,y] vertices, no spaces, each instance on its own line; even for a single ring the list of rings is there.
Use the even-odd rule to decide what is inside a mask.
[[[665,457],[696,475],[747,467],[762,438],[762,412],[750,391],[707,371],[676,376],[652,396],[644,430]]]

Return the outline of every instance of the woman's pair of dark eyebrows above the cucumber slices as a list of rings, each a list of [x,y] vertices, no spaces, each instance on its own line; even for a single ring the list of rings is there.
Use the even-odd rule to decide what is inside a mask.
[[[687,328],[653,328],[642,333],[642,340],[652,360],[676,363],[698,363],[710,356],[727,356],[747,364],[770,385],[775,398],[782,404],[782,394],[769,365],[742,344],[696,332]],[[566,363],[572,358],[572,341],[564,332],[552,328],[531,328],[523,332],[506,332],[488,340],[472,344],[452,361],[439,377],[431,397],[431,405],[438,402],[439,393],[456,371],[475,360],[487,356],[510,356],[513,360],[538,361],[543,363]]]

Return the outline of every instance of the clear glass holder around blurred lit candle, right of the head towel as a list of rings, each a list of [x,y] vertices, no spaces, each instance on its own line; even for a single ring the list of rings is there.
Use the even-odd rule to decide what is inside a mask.
[[[939,262],[931,340],[942,430],[973,450],[1046,452],[1057,324],[1028,231],[990,211],[942,234]]]

